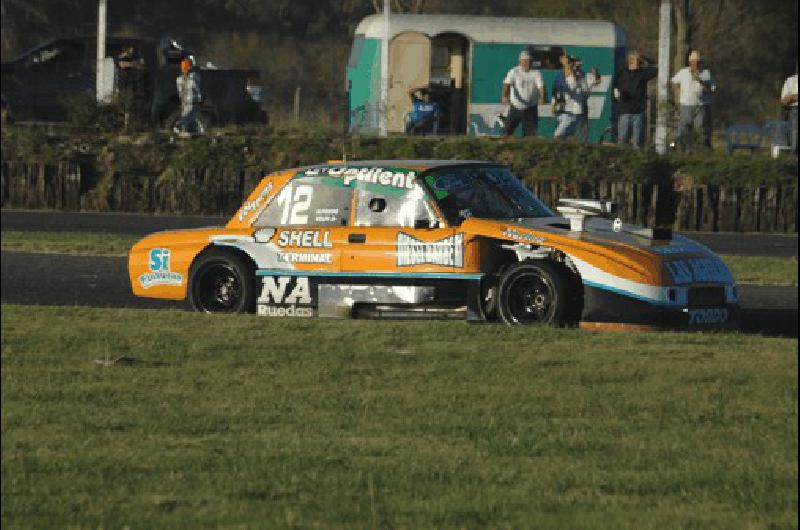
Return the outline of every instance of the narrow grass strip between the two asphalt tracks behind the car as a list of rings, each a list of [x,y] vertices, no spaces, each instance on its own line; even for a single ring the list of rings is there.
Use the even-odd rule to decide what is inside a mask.
[[[2,249],[92,256],[125,256],[140,236],[99,232],[2,231]],[[797,258],[723,256],[739,283],[797,285]]]

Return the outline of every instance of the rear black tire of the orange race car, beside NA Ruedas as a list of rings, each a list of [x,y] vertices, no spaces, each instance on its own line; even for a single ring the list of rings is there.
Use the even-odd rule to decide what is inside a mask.
[[[192,264],[189,303],[203,313],[252,313],[255,285],[249,260],[233,252],[210,249]]]

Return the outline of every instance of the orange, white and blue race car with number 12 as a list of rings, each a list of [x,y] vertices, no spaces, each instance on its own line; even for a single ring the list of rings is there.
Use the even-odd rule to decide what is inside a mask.
[[[225,227],[145,237],[128,270],[135,295],[206,313],[736,325],[708,248],[606,201],[557,210],[492,162],[332,161],[265,176]]]

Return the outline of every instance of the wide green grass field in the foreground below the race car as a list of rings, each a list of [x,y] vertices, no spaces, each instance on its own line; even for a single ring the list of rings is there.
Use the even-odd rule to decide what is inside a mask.
[[[2,330],[4,525],[797,527],[796,340],[10,305]]]

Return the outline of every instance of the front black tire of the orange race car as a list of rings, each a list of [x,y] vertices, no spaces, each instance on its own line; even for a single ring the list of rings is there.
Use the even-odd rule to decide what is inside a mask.
[[[506,269],[497,288],[497,314],[506,324],[574,326],[583,309],[580,280],[552,261],[524,261]]]

